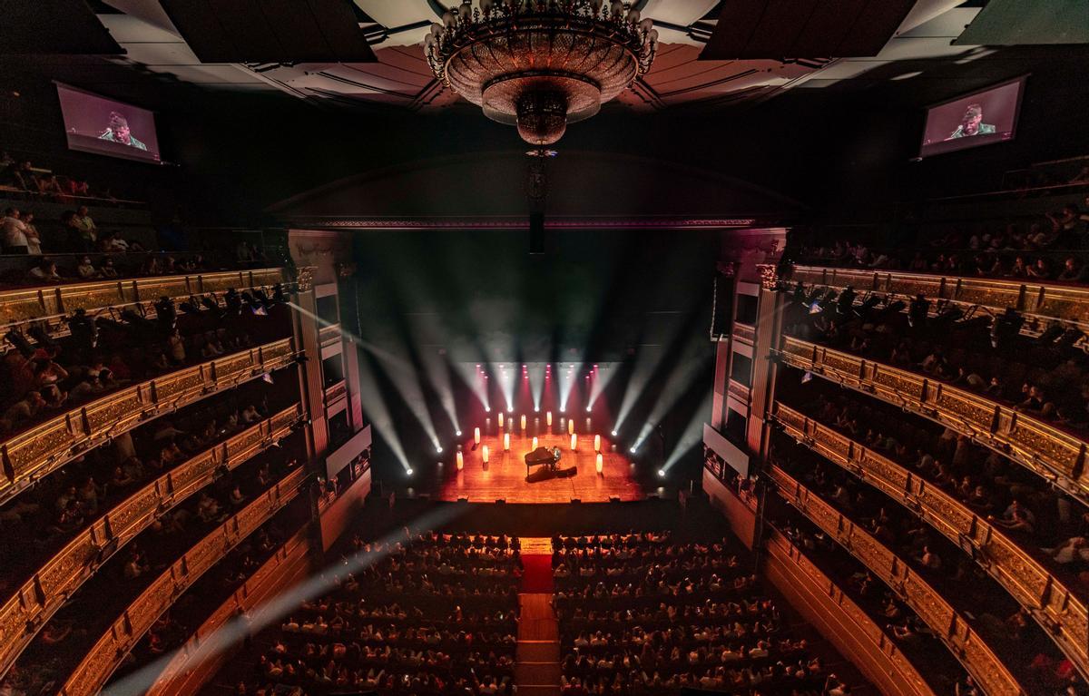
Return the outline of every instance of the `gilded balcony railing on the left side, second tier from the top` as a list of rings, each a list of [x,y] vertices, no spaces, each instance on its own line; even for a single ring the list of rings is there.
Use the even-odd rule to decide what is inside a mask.
[[[24,430],[0,444],[0,504],[99,442],[294,357],[292,339],[281,339],[126,387]]]

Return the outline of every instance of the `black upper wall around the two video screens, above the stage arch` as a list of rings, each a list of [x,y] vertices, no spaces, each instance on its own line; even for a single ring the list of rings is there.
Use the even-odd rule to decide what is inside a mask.
[[[937,193],[993,188],[1006,169],[1089,151],[1082,114],[1089,90],[1077,82],[1089,69],[1085,46],[1013,47],[978,60],[884,64],[849,89],[796,88],[756,107],[705,110],[699,105],[634,114],[607,105],[568,129],[563,149],[634,154],[706,168],[797,198],[817,220],[891,215],[893,204]],[[970,58],[970,57],[969,57]],[[17,63],[17,64],[13,64]],[[284,95],[230,95],[171,83],[161,76],[95,59],[4,59],[0,86],[5,129],[0,147],[16,139],[40,146],[103,180],[115,176],[149,197],[181,203],[197,222],[268,221],[261,210],[290,196],[360,172],[397,163],[479,151],[521,152],[513,129],[479,110],[455,106],[416,114],[360,105],[316,107]],[[890,82],[914,70],[923,75]],[[181,167],[148,166],[68,152],[50,80],[81,86],[110,75],[111,94],[159,113],[164,155]],[[917,154],[923,107],[1016,75],[1031,73],[1017,138],[909,162]],[[12,98],[12,91],[22,97]],[[14,105],[14,106],[13,106]],[[99,173],[100,172],[100,173]],[[441,181],[435,182],[441,186]],[[600,182],[602,197],[611,195]],[[523,181],[480,172],[480,195]]]

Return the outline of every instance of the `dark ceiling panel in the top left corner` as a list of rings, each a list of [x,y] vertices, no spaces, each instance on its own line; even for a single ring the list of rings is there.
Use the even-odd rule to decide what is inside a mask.
[[[120,56],[125,51],[85,0],[23,0],[0,3],[0,53]]]

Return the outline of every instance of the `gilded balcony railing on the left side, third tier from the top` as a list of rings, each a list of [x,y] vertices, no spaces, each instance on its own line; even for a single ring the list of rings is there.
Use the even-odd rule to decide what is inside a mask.
[[[72,539],[0,607],[0,675],[8,672],[50,616],[102,563],[163,512],[286,437],[303,417],[299,404],[205,450],[120,502]]]

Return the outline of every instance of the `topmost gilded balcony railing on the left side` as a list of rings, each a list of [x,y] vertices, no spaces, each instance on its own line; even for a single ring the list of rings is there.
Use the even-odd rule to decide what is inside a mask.
[[[0,333],[12,325],[27,321],[44,320],[50,326],[56,326],[62,317],[76,309],[93,312],[105,307],[156,301],[163,296],[178,300],[189,295],[223,292],[230,288],[241,291],[274,285],[283,282],[283,279],[281,268],[259,268],[7,290],[0,292]]]

